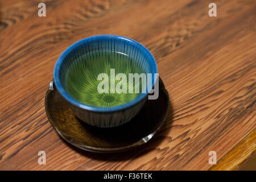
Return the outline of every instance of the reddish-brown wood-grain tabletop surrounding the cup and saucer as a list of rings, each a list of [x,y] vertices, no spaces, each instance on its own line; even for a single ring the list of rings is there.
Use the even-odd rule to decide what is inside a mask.
[[[39,17],[39,1],[0,1],[0,169],[206,170],[209,151],[220,161],[247,135],[246,159],[254,154],[256,2],[217,1],[217,17],[208,15],[210,2],[49,0]],[[61,52],[100,34],[146,46],[170,94],[165,125],[139,150],[78,150],[44,111]],[[46,165],[38,164],[42,150]]]

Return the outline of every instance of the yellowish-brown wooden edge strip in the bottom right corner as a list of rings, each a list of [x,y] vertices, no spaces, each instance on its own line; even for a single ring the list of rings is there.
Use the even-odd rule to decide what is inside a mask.
[[[251,131],[241,142],[228,152],[223,158],[218,160],[217,164],[210,168],[211,171],[231,171],[241,169],[256,151],[256,129]],[[251,169],[253,169],[251,167]],[[256,170],[256,166],[254,166]]]

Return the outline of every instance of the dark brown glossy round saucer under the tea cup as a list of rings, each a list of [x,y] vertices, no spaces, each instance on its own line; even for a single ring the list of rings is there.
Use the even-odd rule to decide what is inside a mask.
[[[147,100],[131,121],[112,128],[93,127],[78,119],[52,82],[44,105],[49,121],[61,138],[82,150],[109,153],[130,150],[149,142],[164,123],[169,95],[159,78],[158,99]]]

